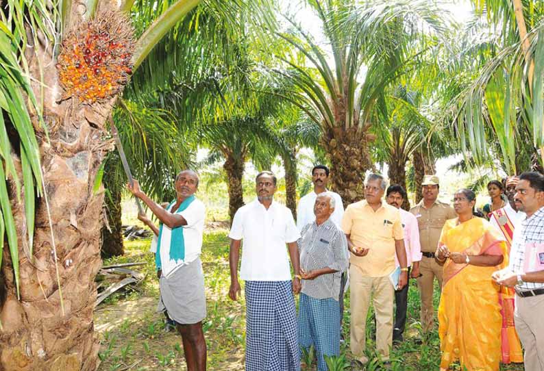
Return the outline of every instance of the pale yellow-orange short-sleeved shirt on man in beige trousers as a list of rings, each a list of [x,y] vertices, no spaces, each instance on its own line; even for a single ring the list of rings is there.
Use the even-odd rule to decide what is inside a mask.
[[[352,203],[344,213],[342,229],[355,246],[370,249],[364,257],[349,253],[349,263],[363,276],[384,277],[395,270],[395,240],[404,238],[396,207],[382,203],[374,211],[367,201]]]

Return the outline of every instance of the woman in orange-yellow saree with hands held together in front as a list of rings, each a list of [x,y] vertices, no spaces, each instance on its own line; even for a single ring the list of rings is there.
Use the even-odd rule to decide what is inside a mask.
[[[474,192],[456,192],[458,218],[447,220],[436,250],[436,261],[444,266],[438,306],[441,370],[457,360],[468,371],[499,370],[502,316],[491,274],[508,263],[508,255],[501,233],[473,216],[474,205]]]

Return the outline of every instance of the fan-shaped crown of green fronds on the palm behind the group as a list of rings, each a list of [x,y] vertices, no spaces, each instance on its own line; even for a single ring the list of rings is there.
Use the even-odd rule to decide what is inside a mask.
[[[448,24],[438,6],[422,0],[308,3],[323,25],[333,60],[301,25],[288,19],[290,29],[278,36],[312,68],[286,55],[279,57],[284,68],[275,72],[292,79],[296,88],[282,97],[307,110],[323,127],[367,127],[383,109],[379,105],[386,88],[415,70],[421,51],[436,43],[429,30],[443,36]],[[349,114],[339,120],[343,113],[333,112],[333,105],[344,106]]]

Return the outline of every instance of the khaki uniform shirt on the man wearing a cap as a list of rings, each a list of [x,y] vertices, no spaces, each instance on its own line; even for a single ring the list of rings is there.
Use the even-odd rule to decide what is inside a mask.
[[[436,200],[427,209],[423,206],[423,200],[421,200],[410,209],[410,212],[417,219],[421,252],[434,253],[436,247],[438,247],[438,239],[440,238],[444,223],[448,219],[457,218],[454,208],[447,203]]]

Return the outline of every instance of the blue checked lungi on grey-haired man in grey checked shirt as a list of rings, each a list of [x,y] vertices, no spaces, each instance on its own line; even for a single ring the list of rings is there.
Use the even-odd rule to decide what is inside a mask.
[[[340,305],[333,298],[316,299],[300,294],[299,341],[301,348],[314,346],[317,370],[327,371],[325,355],[340,355]]]

